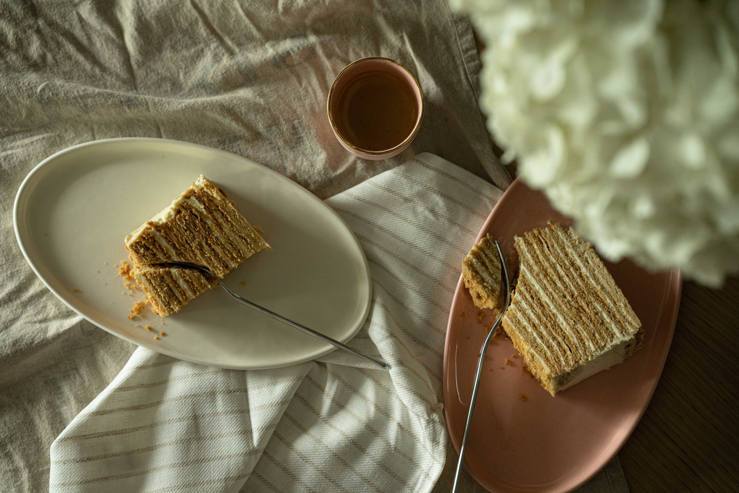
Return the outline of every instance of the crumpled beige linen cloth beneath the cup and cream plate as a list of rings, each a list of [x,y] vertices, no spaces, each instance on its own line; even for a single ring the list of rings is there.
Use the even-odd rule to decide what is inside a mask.
[[[336,73],[371,55],[406,64],[426,97],[413,145],[376,162],[344,152],[325,118]],[[52,442],[137,354],[55,299],[24,261],[13,234],[13,199],[35,164],[89,140],[163,137],[248,157],[321,198],[424,151],[505,188],[510,179],[477,107],[479,69],[469,23],[443,0],[0,0],[3,491],[49,488]],[[325,363],[311,365],[307,375]],[[446,491],[454,460],[445,443],[438,491]],[[265,480],[279,477],[288,486],[266,489],[304,490],[294,477],[299,471],[271,467]]]

